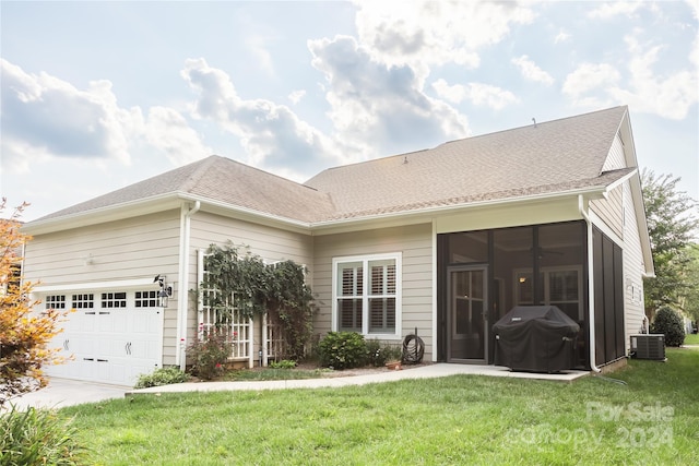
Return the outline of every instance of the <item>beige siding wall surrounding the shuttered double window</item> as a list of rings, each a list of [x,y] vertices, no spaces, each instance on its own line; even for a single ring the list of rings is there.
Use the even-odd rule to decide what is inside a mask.
[[[318,295],[315,332],[331,330],[333,258],[402,253],[401,337],[415,331],[425,342],[425,360],[433,351],[431,224],[411,225],[315,237],[313,292]],[[393,340],[392,343],[398,343]]]

